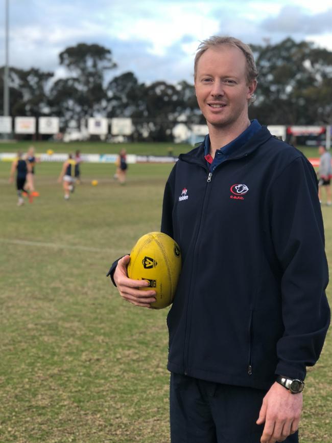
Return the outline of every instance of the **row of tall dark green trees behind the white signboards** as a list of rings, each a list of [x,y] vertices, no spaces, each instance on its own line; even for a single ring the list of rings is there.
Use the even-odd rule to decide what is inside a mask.
[[[251,119],[262,124],[332,124],[332,52],[292,38],[251,48],[259,72]],[[38,68],[10,67],[11,116],[58,116],[62,128],[84,117],[131,117],[136,140],[149,134],[156,141],[170,140],[178,119],[205,123],[193,84],[141,83],[133,72],[111,78],[117,64],[108,48],[78,43],[59,54],[59,64],[67,71],[65,78]]]

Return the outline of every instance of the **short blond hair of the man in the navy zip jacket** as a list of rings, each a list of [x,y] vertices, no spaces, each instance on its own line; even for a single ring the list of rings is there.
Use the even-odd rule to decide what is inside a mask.
[[[200,45],[197,48],[195,61],[194,61],[194,79],[196,80],[197,75],[197,64],[198,60],[201,58],[201,56],[204,54],[206,50],[209,48],[214,48],[216,46],[221,45],[231,45],[235,48],[240,49],[244,56],[246,57],[246,80],[247,84],[249,84],[251,81],[256,80],[258,77],[258,71],[256,68],[255,59],[253,56],[253,53],[248,45],[244,43],[243,41],[239,40],[235,37],[223,37],[218,35],[213,35],[212,37],[207,38],[206,40],[201,41]],[[249,102],[254,101],[254,98],[252,97]]]

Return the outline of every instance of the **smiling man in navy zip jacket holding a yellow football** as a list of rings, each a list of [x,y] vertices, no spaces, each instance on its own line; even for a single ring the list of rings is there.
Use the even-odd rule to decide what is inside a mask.
[[[174,166],[161,223],[183,258],[167,320],[172,443],[297,442],[305,367],[329,325],[316,174],[249,121],[256,78],[240,40],[199,46],[195,90],[209,134]],[[155,293],[128,278],[128,262],[115,262],[113,281],[150,307]]]

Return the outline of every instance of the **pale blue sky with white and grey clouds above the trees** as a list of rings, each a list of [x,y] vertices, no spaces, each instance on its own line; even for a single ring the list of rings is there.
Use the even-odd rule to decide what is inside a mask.
[[[0,2],[0,66],[5,63]],[[56,72],[59,53],[79,42],[110,49],[118,75],[139,81],[192,81],[201,40],[232,35],[246,43],[291,36],[332,51],[331,2],[321,0],[9,0],[10,65]],[[268,39],[268,40],[267,40]]]

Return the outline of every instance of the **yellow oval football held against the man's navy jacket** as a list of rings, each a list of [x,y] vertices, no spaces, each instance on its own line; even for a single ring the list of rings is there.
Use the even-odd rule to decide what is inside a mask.
[[[162,309],[173,302],[181,272],[181,252],[178,244],[162,232],[150,232],[140,237],[130,253],[128,277],[147,280],[154,289],[154,309]]]

